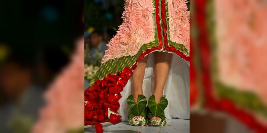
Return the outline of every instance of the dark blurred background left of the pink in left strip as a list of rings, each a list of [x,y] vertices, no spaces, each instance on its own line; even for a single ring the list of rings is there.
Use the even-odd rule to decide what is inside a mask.
[[[46,104],[44,92],[69,64],[84,34],[83,3],[0,1],[1,133],[32,129]]]

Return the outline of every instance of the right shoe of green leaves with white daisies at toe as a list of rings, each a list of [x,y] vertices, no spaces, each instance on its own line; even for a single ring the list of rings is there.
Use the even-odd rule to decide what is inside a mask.
[[[165,126],[166,125],[166,117],[164,115],[164,109],[168,105],[168,100],[163,96],[161,100],[157,103],[155,100],[155,96],[152,95],[148,99],[148,106],[147,106],[147,112],[148,112],[148,123],[151,126]],[[159,117],[161,120],[156,119],[152,120],[152,117]]]

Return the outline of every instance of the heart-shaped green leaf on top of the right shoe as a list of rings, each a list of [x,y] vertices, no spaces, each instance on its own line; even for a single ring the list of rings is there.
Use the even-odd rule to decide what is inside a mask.
[[[154,95],[148,99],[148,107],[151,110],[151,113],[156,117],[164,112],[164,109],[167,107],[167,105],[168,100],[165,98],[165,96],[163,96],[158,103],[156,102]]]

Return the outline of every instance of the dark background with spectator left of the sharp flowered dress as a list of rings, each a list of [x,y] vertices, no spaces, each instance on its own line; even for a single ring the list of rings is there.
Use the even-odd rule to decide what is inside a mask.
[[[85,0],[85,89],[96,74],[107,44],[122,23],[124,0]]]

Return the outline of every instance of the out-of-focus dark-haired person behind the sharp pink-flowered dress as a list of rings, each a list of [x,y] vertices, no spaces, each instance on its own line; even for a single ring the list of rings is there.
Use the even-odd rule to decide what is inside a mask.
[[[89,58],[94,65],[100,65],[101,59],[107,49],[107,42],[104,41],[102,32],[94,31],[91,34],[91,48],[89,51]]]

